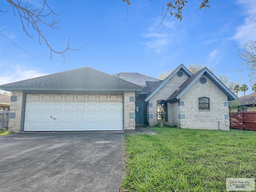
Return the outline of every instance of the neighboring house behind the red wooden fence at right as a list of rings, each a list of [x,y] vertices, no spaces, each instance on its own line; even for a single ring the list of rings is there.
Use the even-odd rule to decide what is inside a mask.
[[[242,96],[238,100],[230,102],[232,112],[256,111],[256,92]]]

